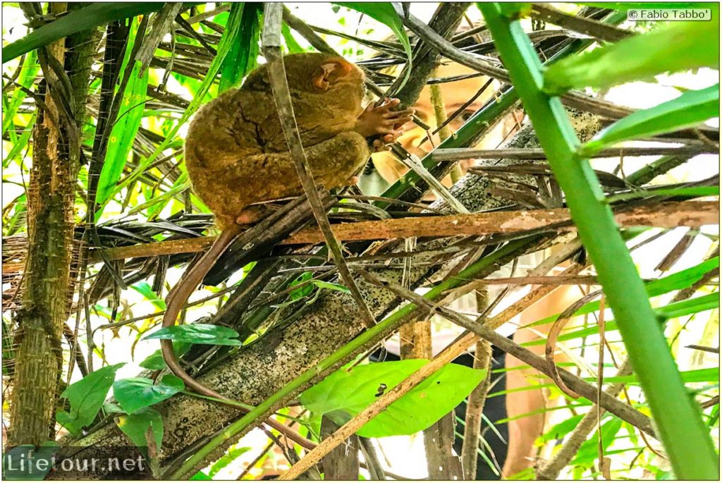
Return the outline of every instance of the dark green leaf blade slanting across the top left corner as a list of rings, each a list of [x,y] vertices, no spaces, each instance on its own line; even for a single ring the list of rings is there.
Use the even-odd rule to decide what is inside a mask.
[[[22,54],[35,50],[43,45],[69,37],[81,30],[103,25],[113,20],[126,19],[136,15],[155,12],[162,9],[162,2],[97,2],[82,9],[73,10],[63,17],[53,20],[25,35],[25,37],[6,45],[2,49],[3,64]]]

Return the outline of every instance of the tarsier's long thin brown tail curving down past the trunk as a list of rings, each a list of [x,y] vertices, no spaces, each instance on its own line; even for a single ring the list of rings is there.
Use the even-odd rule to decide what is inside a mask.
[[[168,299],[166,300],[165,315],[163,316],[162,323],[164,328],[175,325],[175,321],[178,319],[178,313],[181,313],[183,305],[186,304],[188,297],[191,296],[193,290],[196,290],[196,287],[198,287],[201,283],[203,277],[205,277],[209,269],[211,269],[213,264],[215,264],[218,258],[223,254],[228,245],[230,245],[230,243],[240,234],[240,232],[243,231],[243,229],[244,227],[241,225],[234,225],[223,230],[211,248],[204,253],[204,256],[201,257],[198,263],[193,265],[191,269],[188,269],[186,274],[183,275],[181,281],[173,287],[173,290],[170,291]],[[227,406],[243,411],[238,404],[234,404],[233,401],[230,401],[227,397],[222,396],[222,394],[213,391],[211,388],[207,388],[197,380],[193,379],[190,374],[186,373],[186,370],[184,370],[178,362],[178,357],[175,357],[175,352],[173,352],[173,342],[170,341],[170,339],[161,339],[160,348],[163,354],[163,360],[165,360],[165,364],[168,365],[170,372],[181,378],[183,383],[186,384],[186,388],[190,388],[197,393],[203,394],[204,396],[218,399],[222,404],[226,404]],[[311,443],[309,440],[291,430],[290,427],[282,425],[275,419],[269,418],[266,423],[270,427],[287,436],[287,438],[290,438],[296,443],[302,445],[304,448],[313,449],[316,447],[316,445]]]

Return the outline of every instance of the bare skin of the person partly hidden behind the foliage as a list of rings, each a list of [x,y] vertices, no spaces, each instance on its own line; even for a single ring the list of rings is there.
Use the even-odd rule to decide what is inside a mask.
[[[442,65],[437,70],[436,77],[451,77],[463,74],[473,74],[474,71],[467,67],[459,64],[447,64]],[[488,81],[487,77],[474,77],[471,79],[463,79],[454,82],[448,82],[441,84],[441,91],[443,101],[445,104],[445,111],[447,116],[451,116],[452,113],[464,105],[473,95],[475,95]],[[487,87],[487,90],[480,95],[477,100],[469,105],[461,116],[458,116],[456,120],[448,124],[451,131],[456,131],[461,127],[462,124],[473,114],[475,111],[482,108],[487,103],[493,92],[497,90],[498,84],[493,82]],[[416,115],[422,118],[430,127],[431,131],[436,129],[437,123],[434,115],[434,108],[430,97],[429,87],[425,87],[422,94],[419,96],[419,100],[414,105]],[[501,143],[505,141],[505,138],[509,134],[513,133],[513,130],[517,126],[517,123],[521,123],[523,115],[518,111],[513,113],[512,116],[508,116],[504,121],[499,123],[490,134],[484,137],[482,142],[477,144],[479,149],[495,149]],[[427,152],[430,152],[434,146],[438,145],[440,139],[438,134],[433,136],[432,141],[427,139],[427,131],[419,128],[415,124],[409,123],[404,126],[406,131],[401,134],[398,141],[401,145],[409,151],[412,155],[423,157]],[[378,152],[372,157],[373,164],[388,183],[393,183],[401,175],[404,175],[408,169],[401,164],[396,157],[393,157],[388,152]],[[463,161],[460,163],[462,172],[466,172],[469,166],[473,165],[473,161]],[[451,186],[451,179],[447,177],[444,180],[446,186]],[[524,326],[528,323],[532,323],[541,318],[553,315],[554,313],[560,313],[562,310],[567,308],[575,298],[569,287],[560,287],[554,292],[551,292],[547,297],[539,300],[536,304],[525,310],[521,314],[520,326]],[[539,326],[534,329],[521,328],[516,331],[513,339],[522,344],[524,342],[539,339],[539,334],[547,334],[549,326]],[[539,355],[544,354],[544,345],[536,345],[529,347],[533,352]],[[523,363],[514,357],[507,355],[506,367],[513,368],[523,365]],[[509,430],[509,441],[508,441],[508,453],[506,461],[504,463],[502,477],[508,478],[513,474],[522,471],[523,469],[529,468],[534,464],[534,456],[536,455],[536,448],[534,447],[534,440],[538,438],[544,430],[544,414],[533,414],[526,417],[515,419],[515,417],[521,414],[528,414],[536,412],[540,409],[544,409],[547,401],[544,398],[544,393],[541,389],[538,390],[526,390],[520,392],[514,392],[517,388],[526,388],[531,386],[530,380],[538,380],[539,373],[536,370],[521,369],[511,370],[506,374],[506,387],[509,391],[509,396],[505,398],[506,411],[508,418],[511,419],[508,422]]]

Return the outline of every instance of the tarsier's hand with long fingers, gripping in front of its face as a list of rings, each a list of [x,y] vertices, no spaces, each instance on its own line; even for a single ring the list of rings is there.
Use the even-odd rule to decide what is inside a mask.
[[[413,109],[391,110],[401,103],[398,99],[384,99],[383,103],[367,105],[356,121],[355,131],[364,137],[379,135],[373,140],[374,151],[385,151],[387,144],[399,139],[402,126],[412,120]]]

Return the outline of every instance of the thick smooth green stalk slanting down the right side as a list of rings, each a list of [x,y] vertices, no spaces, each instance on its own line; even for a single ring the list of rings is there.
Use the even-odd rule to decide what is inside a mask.
[[[679,479],[718,479],[719,458],[699,406],[684,387],[596,175],[588,160],[575,156],[579,142],[560,99],[541,91],[541,62],[529,37],[500,4],[479,8],[596,266],[674,474]]]

